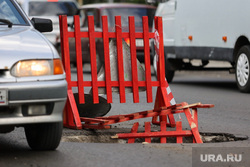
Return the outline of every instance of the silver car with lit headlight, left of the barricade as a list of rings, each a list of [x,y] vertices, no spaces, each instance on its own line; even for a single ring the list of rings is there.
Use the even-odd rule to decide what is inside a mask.
[[[51,30],[51,20],[29,20],[15,0],[0,1],[0,132],[24,127],[35,150],[56,149],[63,129],[65,72],[40,33]]]

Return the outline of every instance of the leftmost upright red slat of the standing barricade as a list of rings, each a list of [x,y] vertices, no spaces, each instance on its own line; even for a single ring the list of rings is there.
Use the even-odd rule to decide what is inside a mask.
[[[68,39],[68,23],[67,16],[60,16],[61,26],[61,49],[64,60],[64,70],[66,73],[66,80],[68,82],[68,90],[72,89],[71,85],[71,69],[70,69],[70,57],[69,57],[69,39]]]

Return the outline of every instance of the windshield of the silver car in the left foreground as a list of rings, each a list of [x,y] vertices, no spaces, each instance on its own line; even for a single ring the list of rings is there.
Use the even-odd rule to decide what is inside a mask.
[[[0,19],[8,20],[12,24],[25,25],[26,22],[10,0],[0,0]],[[6,22],[0,22],[0,25]]]

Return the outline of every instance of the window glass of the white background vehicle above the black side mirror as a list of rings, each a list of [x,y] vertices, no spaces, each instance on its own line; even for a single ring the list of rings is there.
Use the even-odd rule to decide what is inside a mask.
[[[30,2],[29,16],[73,16],[77,12],[77,6],[73,2]]]

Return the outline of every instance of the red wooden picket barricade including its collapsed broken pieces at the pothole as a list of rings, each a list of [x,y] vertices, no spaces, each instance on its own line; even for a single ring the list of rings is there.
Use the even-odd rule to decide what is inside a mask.
[[[180,123],[177,125],[177,130],[171,132],[171,136],[185,136],[186,134],[191,135],[195,138],[196,142],[201,143],[201,139],[198,132],[198,120],[197,120],[197,108],[208,108],[213,105],[188,105],[187,103],[175,104],[173,94],[170,90],[168,82],[165,79],[165,62],[164,62],[164,48],[163,48],[163,34],[162,34],[162,20],[161,17],[155,17],[155,32],[149,32],[148,28],[148,18],[145,16],[142,18],[143,31],[135,31],[135,21],[134,17],[130,16],[129,20],[129,32],[122,32],[121,17],[115,17],[115,32],[108,31],[107,16],[102,16],[102,32],[95,32],[94,17],[88,16],[88,31],[82,32],[80,30],[79,16],[74,16],[74,31],[68,31],[67,17],[60,16],[60,37],[61,37],[61,53],[62,60],[66,72],[66,80],[68,82],[68,100],[64,111],[64,126],[73,129],[91,128],[91,129],[104,129],[110,128],[110,124],[124,122],[134,119],[152,117],[153,124],[159,124],[161,126],[161,131],[157,134],[146,133],[146,135],[139,135],[139,137],[150,138],[150,137],[168,137],[168,131],[166,131],[166,126],[175,127],[176,122],[174,119],[174,114],[185,113],[187,120],[190,124],[190,131],[180,130]],[[70,54],[69,54],[69,44],[68,39],[75,39],[75,50],[77,59],[77,81],[72,81],[71,79],[71,67],[70,67]],[[82,67],[82,47],[81,38],[89,39],[90,47],[90,59],[91,59],[91,81],[84,81],[83,77],[83,67]],[[97,74],[97,62],[96,62],[96,45],[95,38],[102,38],[104,45],[104,71],[105,80],[99,81]],[[116,39],[117,48],[117,73],[118,80],[111,80],[111,68],[110,68],[110,51],[109,51],[109,41],[111,38]],[[131,55],[131,75],[130,81],[124,79],[124,62],[123,62],[123,38],[129,38],[130,41],[130,55]],[[136,39],[143,39],[144,41],[144,63],[145,63],[145,80],[138,80],[138,69],[137,69],[137,57],[136,57]],[[150,39],[155,40],[156,52],[158,55],[157,62],[157,80],[154,81],[151,78],[151,63],[150,63]],[[154,101],[154,108],[148,111],[137,112],[127,115],[115,115],[108,117],[97,117],[97,118],[87,118],[80,117],[78,108],[76,105],[75,97],[72,91],[73,87],[77,87],[79,103],[85,103],[84,99],[84,88],[92,88],[93,103],[99,103],[98,90],[99,88],[105,88],[106,98],[108,103],[112,103],[112,88],[116,87],[119,90],[120,103],[126,103],[126,93],[125,88],[129,87],[132,89],[133,102],[139,103],[139,89],[144,87],[146,90],[147,102],[153,102],[153,92],[152,88],[157,87],[156,99]],[[191,108],[194,111],[194,115],[190,113]],[[158,119],[159,118],[159,119]],[[132,136],[124,134],[122,137],[118,134],[118,138],[130,138],[129,141],[133,141],[134,138],[138,137],[136,125],[132,128]],[[149,123],[145,125],[145,131],[150,131]],[[135,135],[135,136],[133,136]],[[149,135],[149,136],[147,136]],[[120,137],[119,137],[120,136]],[[165,139],[162,139],[164,142]],[[149,139],[147,139],[149,141]],[[178,140],[180,141],[180,139]]]

